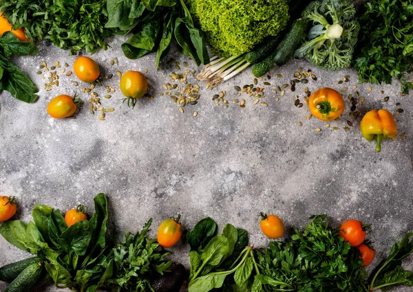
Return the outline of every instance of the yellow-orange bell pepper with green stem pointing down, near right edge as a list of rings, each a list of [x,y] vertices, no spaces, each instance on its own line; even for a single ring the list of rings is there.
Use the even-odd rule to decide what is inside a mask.
[[[374,109],[364,115],[360,122],[361,134],[372,142],[377,139],[376,151],[381,150],[381,139],[394,138],[397,135],[396,122],[393,115],[385,109]]]

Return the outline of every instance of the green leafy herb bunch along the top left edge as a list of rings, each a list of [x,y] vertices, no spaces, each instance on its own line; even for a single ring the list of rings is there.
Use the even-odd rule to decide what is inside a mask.
[[[36,41],[50,40],[76,54],[107,49],[105,0],[0,0],[0,11],[15,29],[25,27]]]

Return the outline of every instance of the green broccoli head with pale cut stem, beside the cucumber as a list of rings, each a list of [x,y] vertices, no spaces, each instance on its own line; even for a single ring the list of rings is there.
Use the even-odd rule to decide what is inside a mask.
[[[297,49],[295,56],[304,56],[310,63],[322,69],[339,70],[350,67],[360,30],[359,23],[354,19],[352,1],[317,2],[308,5],[303,13],[303,18],[310,24],[308,41]],[[326,23],[319,21],[321,17]]]

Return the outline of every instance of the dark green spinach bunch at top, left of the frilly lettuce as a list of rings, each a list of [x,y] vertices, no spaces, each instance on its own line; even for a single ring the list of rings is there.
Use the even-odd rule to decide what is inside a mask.
[[[198,30],[183,0],[107,0],[109,20],[105,27],[116,34],[133,32],[122,45],[127,58],[136,59],[157,51],[156,66],[169,52],[172,41],[195,63],[209,63],[206,41]]]

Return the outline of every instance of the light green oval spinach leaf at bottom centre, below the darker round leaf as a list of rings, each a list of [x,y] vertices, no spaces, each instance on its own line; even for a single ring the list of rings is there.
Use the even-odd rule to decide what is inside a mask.
[[[229,240],[222,234],[211,239],[207,246],[201,251],[203,265],[218,266],[229,255]]]

